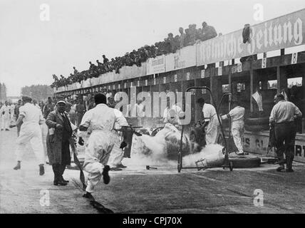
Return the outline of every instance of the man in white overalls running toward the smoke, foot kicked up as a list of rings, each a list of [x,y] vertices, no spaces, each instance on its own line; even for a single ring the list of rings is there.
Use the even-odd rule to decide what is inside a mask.
[[[108,159],[115,137],[113,128],[115,123],[120,126],[127,126],[127,120],[120,111],[109,108],[107,98],[105,95],[98,93],[94,97],[95,108],[88,110],[83,119],[79,130],[90,130],[91,135],[88,139],[85,150],[85,161],[83,163],[83,170],[88,172],[88,186],[86,187],[86,194],[83,197],[94,199],[91,193],[95,185],[98,185],[100,178],[103,176],[103,182],[108,185],[110,177],[108,172],[110,170]],[[89,128],[89,129],[88,129]]]

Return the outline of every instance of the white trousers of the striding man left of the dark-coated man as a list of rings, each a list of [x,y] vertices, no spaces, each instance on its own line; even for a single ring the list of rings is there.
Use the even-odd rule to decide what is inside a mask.
[[[38,165],[45,163],[43,151],[41,129],[38,123],[29,123],[21,125],[19,137],[16,140],[16,160],[21,161],[24,155],[24,149],[27,143],[31,144],[33,152],[38,160]]]

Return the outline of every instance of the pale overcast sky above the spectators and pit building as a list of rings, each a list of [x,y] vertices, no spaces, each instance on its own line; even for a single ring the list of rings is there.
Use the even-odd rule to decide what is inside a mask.
[[[41,4],[49,21],[41,21]],[[304,0],[0,0],[0,82],[7,95],[21,88],[50,85],[52,75],[65,77],[88,69],[89,61],[123,56],[167,33],[203,21],[222,34],[254,20],[261,4],[264,21],[305,8]]]

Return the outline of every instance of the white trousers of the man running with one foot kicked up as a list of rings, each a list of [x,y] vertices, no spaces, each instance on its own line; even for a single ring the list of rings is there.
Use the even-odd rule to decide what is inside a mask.
[[[113,134],[93,131],[85,150],[83,170],[88,172],[86,192],[93,192],[94,187],[100,182],[103,168],[108,164],[110,152],[113,150]]]

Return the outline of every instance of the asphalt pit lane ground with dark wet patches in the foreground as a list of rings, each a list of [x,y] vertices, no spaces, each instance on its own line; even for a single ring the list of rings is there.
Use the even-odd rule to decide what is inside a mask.
[[[53,185],[51,166],[38,175],[31,150],[21,170],[13,167],[16,129],[0,132],[1,213],[99,213],[81,197],[78,170],[66,170],[67,186]],[[275,165],[233,172],[182,170],[145,165],[110,172],[109,185],[100,182],[95,200],[115,213],[304,213],[305,165],[294,162],[294,173],[276,172]],[[264,193],[264,206],[254,205],[254,190]],[[49,197],[49,204],[43,196]]]

